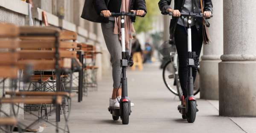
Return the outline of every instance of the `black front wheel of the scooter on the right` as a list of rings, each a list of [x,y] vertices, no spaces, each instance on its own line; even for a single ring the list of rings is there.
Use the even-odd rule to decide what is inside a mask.
[[[189,101],[189,109],[187,113],[187,121],[189,123],[195,122],[196,117],[196,102],[195,101]]]

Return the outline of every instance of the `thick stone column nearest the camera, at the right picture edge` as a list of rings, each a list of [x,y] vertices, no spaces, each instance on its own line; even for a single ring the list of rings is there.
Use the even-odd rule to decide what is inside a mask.
[[[220,116],[256,116],[255,0],[223,0],[224,55],[219,63]]]

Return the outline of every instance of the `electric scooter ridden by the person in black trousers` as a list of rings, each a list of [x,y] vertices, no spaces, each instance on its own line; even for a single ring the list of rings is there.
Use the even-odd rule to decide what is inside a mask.
[[[173,14],[170,12],[169,13],[170,16],[172,16]],[[183,106],[183,104],[181,103],[181,105],[178,105],[178,110],[179,112],[182,114],[182,118],[183,119],[187,119],[187,121],[189,123],[193,123],[195,122],[195,117],[196,117],[196,112],[198,111],[196,106],[196,99],[194,96],[194,80],[193,80],[193,76],[192,76],[192,68],[198,67],[199,65],[199,59],[198,56],[195,54],[195,52],[192,52],[192,37],[191,37],[191,23],[192,23],[192,17],[205,17],[202,13],[200,14],[194,14],[193,12],[190,13],[180,13],[180,16],[183,17],[187,17],[187,21],[188,21],[188,29],[187,29],[187,33],[188,33],[188,60],[187,60],[187,66],[189,68],[189,72],[188,72],[188,84],[187,84],[187,89],[188,89],[188,95],[185,99],[186,101],[186,106]],[[212,15],[211,15],[212,17]],[[182,101],[184,97],[182,97]]]

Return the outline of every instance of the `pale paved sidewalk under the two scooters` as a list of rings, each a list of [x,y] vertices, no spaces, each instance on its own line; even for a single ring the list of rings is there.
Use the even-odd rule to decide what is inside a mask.
[[[218,101],[198,99],[197,118],[194,123],[187,123],[177,111],[178,98],[163,83],[159,64],[144,67],[144,71],[128,71],[128,95],[135,104],[129,125],[122,125],[120,120],[113,122],[107,110],[112,92],[109,76],[83,102],[73,99],[71,133],[256,133],[256,118],[218,116]],[[54,117],[50,121],[54,122]],[[44,133],[53,132],[55,128],[47,125]]]

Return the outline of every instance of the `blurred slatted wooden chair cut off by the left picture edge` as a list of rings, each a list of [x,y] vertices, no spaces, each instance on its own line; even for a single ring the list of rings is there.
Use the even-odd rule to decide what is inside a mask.
[[[20,68],[26,68],[28,62],[18,63],[22,54],[18,49],[20,48],[20,44],[18,41],[18,36],[20,33],[20,29],[13,24],[3,24],[0,23],[0,78],[9,79],[11,82],[10,90],[11,92],[15,92],[17,90],[17,82],[18,79],[18,70]],[[3,80],[3,88],[5,80]],[[5,90],[3,90],[5,92]],[[0,98],[0,105],[2,104],[11,104],[17,105],[19,103],[24,104],[41,104],[41,103],[53,103],[55,105],[60,105],[62,102],[62,96],[51,96],[47,95],[44,97],[38,96],[29,96],[29,97],[20,97],[15,94],[12,97],[5,97],[5,95]],[[2,107],[2,106],[0,106]],[[18,107],[20,108],[20,107]],[[0,108],[1,110],[1,108]],[[4,111],[1,110],[3,113]],[[15,117],[10,116],[8,113],[4,113],[6,117],[0,118],[0,125],[9,125],[15,126],[20,125]]]

